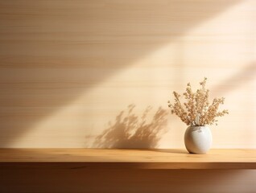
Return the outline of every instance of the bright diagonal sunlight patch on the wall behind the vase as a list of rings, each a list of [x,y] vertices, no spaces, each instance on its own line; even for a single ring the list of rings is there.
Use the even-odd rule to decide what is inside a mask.
[[[192,27],[184,35],[175,37],[171,43],[165,43],[157,50],[147,53],[118,73],[114,73],[114,67],[88,69],[92,70],[94,76],[97,76],[97,71],[100,74],[105,71],[113,73],[85,93],[79,94],[68,105],[33,125],[33,128],[9,146],[94,147],[95,138],[107,128],[109,121],[114,121],[131,103],[136,105],[134,113],[139,116],[151,105],[153,110],[147,117],[147,120],[151,120],[160,106],[167,109],[170,92],[182,92],[188,81],[196,86],[202,77],[207,76],[210,88],[225,84],[225,77],[242,71],[252,61],[248,33],[251,33],[250,26],[253,25],[254,18],[248,12],[250,6],[250,1],[244,1],[229,7],[221,14]],[[255,84],[251,84],[250,88],[255,90]],[[224,92],[225,97],[232,101],[232,104],[228,103],[228,109],[233,112],[246,110],[250,104],[244,104],[244,108],[241,105],[239,108],[232,107],[233,102],[245,92],[250,96],[248,88],[241,86],[236,87],[232,93]],[[255,117],[255,112],[250,114]],[[233,123],[232,115],[221,120],[219,129],[213,131],[216,136],[213,145],[255,148],[256,142],[240,138],[244,133],[242,125],[246,125],[248,120],[241,114],[235,116],[240,117],[238,125],[237,122]],[[230,129],[223,128],[224,125],[229,125]],[[174,117],[169,118],[169,132],[165,133],[158,147],[183,148],[185,127]],[[228,138],[231,129],[234,131],[232,139]],[[248,132],[252,130],[249,129]],[[85,138],[86,136],[89,138]]]

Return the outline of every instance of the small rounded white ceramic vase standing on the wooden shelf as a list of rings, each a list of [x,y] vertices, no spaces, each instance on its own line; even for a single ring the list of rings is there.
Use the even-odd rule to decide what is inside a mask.
[[[212,132],[208,126],[189,126],[184,135],[185,146],[191,154],[206,154],[212,146]]]

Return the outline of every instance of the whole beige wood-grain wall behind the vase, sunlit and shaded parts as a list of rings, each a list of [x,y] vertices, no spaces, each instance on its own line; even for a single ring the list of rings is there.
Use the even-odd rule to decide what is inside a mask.
[[[213,147],[256,148],[254,1],[0,1],[0,23],[2,147],[184,148],[167,101],[207,76]]]

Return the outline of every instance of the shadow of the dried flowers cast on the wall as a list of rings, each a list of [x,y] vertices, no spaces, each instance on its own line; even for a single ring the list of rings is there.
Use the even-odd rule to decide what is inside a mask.
[[[95,138],[95,148],[155,148],[164,133],[167,132],[166,109],[159,107],[151,117],[151,106],[142,116],[134,113],[135,105],[129,105],[121,111],[115,121],[109,121],[108,127]],[[151,118],[150,118],[151,117]]]

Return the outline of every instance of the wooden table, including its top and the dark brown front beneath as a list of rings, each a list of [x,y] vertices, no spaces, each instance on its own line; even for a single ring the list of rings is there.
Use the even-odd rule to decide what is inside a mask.
[[[0,149],[0,192],[254,192],[247,169],[256,150]]]

